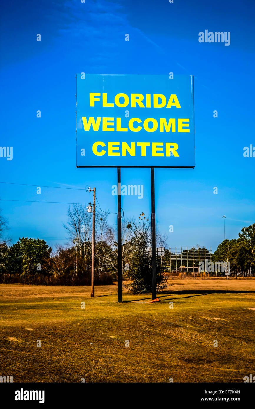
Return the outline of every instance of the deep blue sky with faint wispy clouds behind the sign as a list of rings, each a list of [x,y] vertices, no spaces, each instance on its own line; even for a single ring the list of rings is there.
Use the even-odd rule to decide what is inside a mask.
[[[117,170],[75,167],[75,74],[188,74],[194,75],[196,167],[155,169],[158,228],[168,234],[168,246],[214,250],[224,238],[224,214],[227,238],[255,222],[255,157],[243,156],[245,146],[255,146],[254,2],[14,1],[1,7],[0,146],[13,146],[13,160],[0,158],[0,182],[95,186],[100,207],[115,213]],[[230,31],[230,45],[199,43],[205,29]],[[143,199],[122,197],[125,218],[150,216],[150,169],[122,169],[122,184],[144,185]],[[89,194],[42,188],[37,195],[36,187],[0,183],[0,199],[87,203]],[[65,243],[68,205],[0,200],[0,207],[13,242],[38,236],[51,246]]]

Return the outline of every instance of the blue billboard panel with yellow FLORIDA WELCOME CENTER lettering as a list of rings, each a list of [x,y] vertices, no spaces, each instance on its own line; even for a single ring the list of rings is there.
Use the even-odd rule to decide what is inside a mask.
[[[77,167],[194,167],[193,76],[77,74]]]

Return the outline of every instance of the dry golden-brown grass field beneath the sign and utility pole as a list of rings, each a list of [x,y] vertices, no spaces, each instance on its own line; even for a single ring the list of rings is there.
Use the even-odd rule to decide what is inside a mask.
[[[151,296],[125,290],[117,303],[117,285],[95,287],[91,299],[89,287],[1,284],[0,375],[13,382],[244,382],[255,371],[255,280],[169,283],[152,304],[131,302]]]

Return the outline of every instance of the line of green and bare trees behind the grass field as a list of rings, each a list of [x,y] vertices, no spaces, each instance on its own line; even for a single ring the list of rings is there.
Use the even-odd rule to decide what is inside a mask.
[[[90,285],[92,253],[92,213],[73,205],[64,224],[67,244],[54,249],[43,239],[20,238],[9,245],[7,221],[0,213],[0,282],[46,285]],[[117,231],[108,222],[108,213],[97,208],[95,218],[95,284],[112,284],[117,276]],[[122,219],[122,261],[124,286],[133,293],[151,292],[151,223],[141,213],[138,218]],[[157,290],[166,286],[170,253],[167,236],[157,232],[157,247],[165,254],[157,257]],[[197,251],[197,250],[195,250]],[[190,250],[189,250],[190,252]],[[208,249],[206,255],[210,256]],[[183,250],[183,260],[187,250]],[[212,261],[230,262],[238,276],[255,272],[255,224],[244,227],[239,237],[223,240],[212,254]],[[178,257],[178,267],[181,265]],[[176,261],[171,253],[171,267]],[[215,274],[215,273],[214,273]],[[216,273],[220,275],[221,273]],[[222,273],[223,275],[224,273]],[[125,281],[126,280],[126,281]]]

